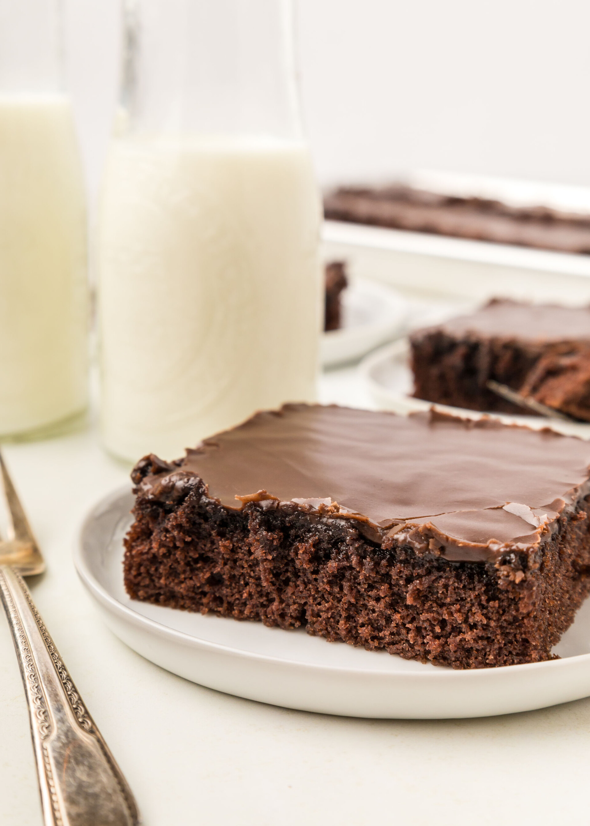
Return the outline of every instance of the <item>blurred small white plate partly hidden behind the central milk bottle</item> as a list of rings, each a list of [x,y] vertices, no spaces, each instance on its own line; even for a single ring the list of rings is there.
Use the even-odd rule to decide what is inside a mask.
[[[402,335],[407,302],[393,287],[367,278],[350,278],[340,301],[342,326],[321,336],[323,367],[361,358],[384,341]]]

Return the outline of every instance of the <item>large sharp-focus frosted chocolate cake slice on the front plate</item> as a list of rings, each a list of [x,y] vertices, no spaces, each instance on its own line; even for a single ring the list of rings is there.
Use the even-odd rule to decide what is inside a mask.
[[[473,668],[538,662],[590,591],[590,444],[287,405],[143,458],[133,599]]]

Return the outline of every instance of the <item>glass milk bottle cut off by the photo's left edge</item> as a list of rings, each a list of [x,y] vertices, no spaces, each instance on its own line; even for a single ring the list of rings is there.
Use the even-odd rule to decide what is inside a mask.
[[[82,167],[57,0],[0,0],[0,438],[87,403]]]

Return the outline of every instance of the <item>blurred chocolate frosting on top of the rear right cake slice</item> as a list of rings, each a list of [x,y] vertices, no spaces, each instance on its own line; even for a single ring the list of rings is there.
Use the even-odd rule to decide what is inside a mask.
[[[494,299],[469,316],[457,316],[439,326],[440,330],[454,338],[464,338],[473,333],[478,337],[518,338],[535,342],[583,340],[590,343],[590,307]]]

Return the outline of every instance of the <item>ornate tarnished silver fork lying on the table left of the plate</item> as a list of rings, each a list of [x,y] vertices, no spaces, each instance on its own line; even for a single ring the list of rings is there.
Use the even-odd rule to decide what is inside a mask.
[[[138,826],[121,769],[74,686],[23,576],[45,570],[0,453],[9,529],[0,540],[0,598],[29,706],[45,826]]]

